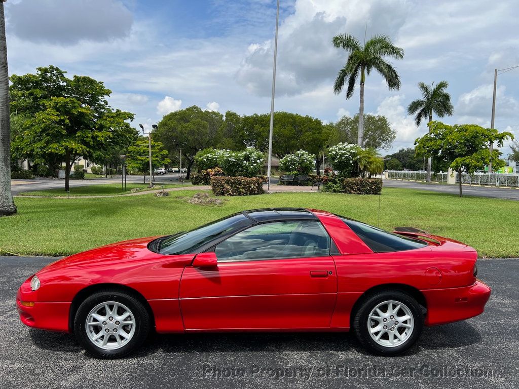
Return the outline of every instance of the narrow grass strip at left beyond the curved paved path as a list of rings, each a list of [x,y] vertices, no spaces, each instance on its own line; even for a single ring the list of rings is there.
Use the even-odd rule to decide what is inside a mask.
[[[135,183],[127,183],[126,184],[126,192],[122,191],[121,184],[99,184],[99,185],[86,185],[86,186],[78,186],[74,188],[70,188],[70,193],[65,192],[63,188],[59,189],[47,189],[47,190],[35,190],[32,192],[20,192],[20,196],[60,196],[60,197],[68,197],[68,196],[110,196],[110,195],[121,195],[122,193],[130,193],[133,188],[141,188],[142,190],[138,190],[138,192],[143,192],[146,190],[156,190],[163,188],[174,188],[180,186],[186,186],[185,184],[160,184],[155,185],[153,188],[148,188],[148,184],[135,184]]]

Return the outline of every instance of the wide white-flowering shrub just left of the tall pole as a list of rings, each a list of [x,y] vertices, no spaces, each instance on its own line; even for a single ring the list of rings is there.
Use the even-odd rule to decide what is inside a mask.
[[[221,168],[229,176],[254,177],[264,163],[263,152],[248,148],[243,151],[204,149],[197,152],[195,162],[199,169]]]

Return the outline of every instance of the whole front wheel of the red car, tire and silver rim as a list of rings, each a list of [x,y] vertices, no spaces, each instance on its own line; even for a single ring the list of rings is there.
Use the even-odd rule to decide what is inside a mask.
[[[76,312],[74,332],[90,354],[120,358],[135,351],[149,332],[149,315],[133,296],[100,291],[85,299]]]

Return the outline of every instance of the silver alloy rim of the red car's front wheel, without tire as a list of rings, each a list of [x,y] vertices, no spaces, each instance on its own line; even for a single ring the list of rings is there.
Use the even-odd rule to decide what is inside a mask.
[[[88,339],[99,348],[120,349],[135,334],[135,316],[120,302],[102,302],[87,315],[85,329]]]

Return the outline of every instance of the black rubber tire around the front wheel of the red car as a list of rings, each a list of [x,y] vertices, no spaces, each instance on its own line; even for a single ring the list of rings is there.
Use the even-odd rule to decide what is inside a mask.
[[[134,332],[130,340],[115,350],[105,350],[95,345],[87,335],[86,321],[90,311],[98,304],[114,301],[125,305],[134,316]],[[121,319],[122,320],[122,319]],[[115,359],[124,357],[138,349],[147,338],[150,330],[149,314],[144,305],[135,297],[122,291],[102,290],[86,298],[77,309],[74,317],[74,334],[85,350],[98,358]],[[115,334],[114,334],[115,335]],[[115,338],[111,338],[115,340]]]

